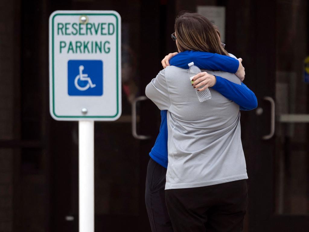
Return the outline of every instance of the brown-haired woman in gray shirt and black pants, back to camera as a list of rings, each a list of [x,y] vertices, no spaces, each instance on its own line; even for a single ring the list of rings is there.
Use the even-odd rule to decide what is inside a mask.
[[[205,17],[176,18],[179,52],[228,55]],[[207,71],[240,84],[235,74]],[[210,88],[200,102],[188,70],[168,66],[146,87],[146,96],[168,110],[166,203],[174,231],[241,231],[247,208],[248,178],[240,139],[239,105]],[[211,87],[211,86],[209,86]]]

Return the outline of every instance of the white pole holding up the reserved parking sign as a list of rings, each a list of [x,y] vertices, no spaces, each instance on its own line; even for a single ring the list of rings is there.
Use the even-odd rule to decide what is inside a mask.
[[[78,121],[79,232],[94,232],[94,121]]]

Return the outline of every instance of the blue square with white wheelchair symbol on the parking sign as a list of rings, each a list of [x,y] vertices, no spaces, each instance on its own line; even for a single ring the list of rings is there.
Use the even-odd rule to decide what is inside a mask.
[[[68,94],[70,96],[102,96],[103,61],[69,60]]]

